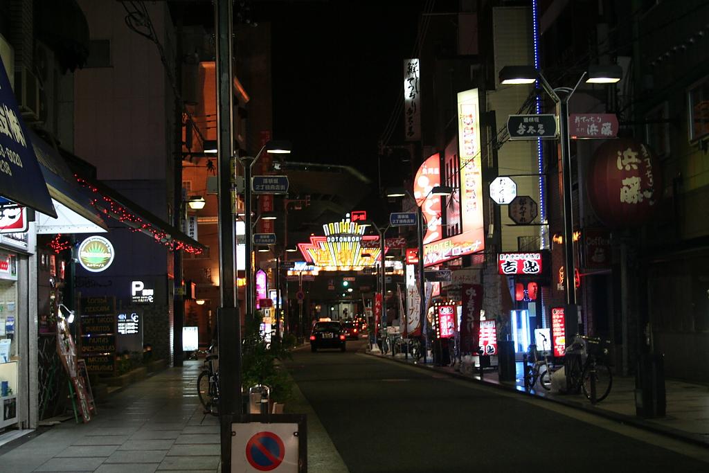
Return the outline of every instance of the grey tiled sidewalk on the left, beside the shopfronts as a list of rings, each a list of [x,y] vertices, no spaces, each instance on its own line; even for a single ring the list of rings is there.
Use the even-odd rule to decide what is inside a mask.
[[[201,363],[111,394],[89,423],[73,419],[0,456],[2,472],[217,472],[218,418],[196,396]]]

